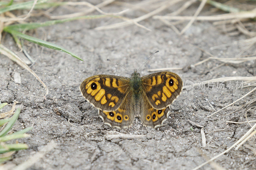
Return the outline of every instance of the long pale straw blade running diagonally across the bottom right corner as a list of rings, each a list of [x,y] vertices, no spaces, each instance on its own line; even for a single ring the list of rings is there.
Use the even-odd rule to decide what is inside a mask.
[[[199,168],[201,168],[202,166],[204,166],[204,165],[208,164],[209,162],[213,161],[214,159],[219,158],[221,155],[227,153],[227,152],[230,151],[232,148],[234,148],[237,144],[240,144],[241,142],[245,142],[245,141],[244,141],[245,139],[248,140],[249,138],[247,138],[247,137],[251,137],[251,136],[253,136],[253,135],[256,133],[256,130],[254,130],[255,128],[256,128],[256,123],[252,126],[251,129],[249,129],[249,130],[244,134],[243,137],[241,137],[236,143],[234,143],[232,146],[230,146],[227,150],[225,150],[225,151],[221,152],[220,154],[214,156],[212,159],[210,159],[210,160],[204,162],[203,164],[201,164],[201,165],[199,165],[199,166],[196,166],[193,170],[199,169]],[[254,130],[254,132],[252,133],[253,130]]]

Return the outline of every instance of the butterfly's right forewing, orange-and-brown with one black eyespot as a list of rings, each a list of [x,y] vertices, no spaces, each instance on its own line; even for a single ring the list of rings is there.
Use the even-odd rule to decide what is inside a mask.
[[[170,106],[182,91],[181,78],[170,71],[149,74],[141,79],[143,91],[155,109]]]

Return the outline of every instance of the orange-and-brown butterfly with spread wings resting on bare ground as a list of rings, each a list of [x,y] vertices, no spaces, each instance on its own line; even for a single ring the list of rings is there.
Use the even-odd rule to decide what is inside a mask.
[[[99,116],[110,127],[128,128],[135,117],[145,126],[159,127],[170,114],[169,106],[180,95],[183,82],[169,71],[131,78],[95,75],[80,85],[84,98],[99,109]]]

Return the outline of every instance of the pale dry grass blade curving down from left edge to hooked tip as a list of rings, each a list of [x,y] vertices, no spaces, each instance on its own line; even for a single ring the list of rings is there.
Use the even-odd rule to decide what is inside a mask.
[[[46,95],[48,94],[49,90],[48,87],[44,84],[44,82],[36,75],[36,73],[31,70],[28,65],[20,59],[20,57],[18,55],[16,55],[15,53],[13,53],[11,50],[9,50],[8,48],[6,48],[3,44],[0,44],[0,53],[9,57],[12,61],[16,62],[17,64],[19,64],[22,68],[28,70],[31,74],[33,74],[37,80],[44,86],[46,93],[44,96],[44,99],[46,99]]]

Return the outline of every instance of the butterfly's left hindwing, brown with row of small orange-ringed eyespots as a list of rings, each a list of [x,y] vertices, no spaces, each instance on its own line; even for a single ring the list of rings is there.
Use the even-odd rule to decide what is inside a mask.
[[[129,92],[123,103],[115,111],[99,110],[99,115],[105,124],[110,127],[128,128],[134,121],[134,100],[132,92]]]

